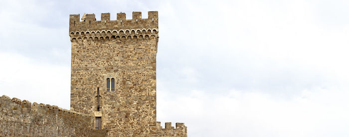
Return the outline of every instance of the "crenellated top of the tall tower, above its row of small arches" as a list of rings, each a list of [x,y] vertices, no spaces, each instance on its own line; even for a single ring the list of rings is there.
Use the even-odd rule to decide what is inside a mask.
[[[158,31],[158,11],[148,11],[148,18],[142,18],[142,12],[132,12],[132,19],[126,19],[126,13],[117,13],[116,20],[110,20],[110,13],[101,13],[101,20],[96,20],[95,14],[85,14],[80,21],[80,14],[72,14],[69,19],[69,34],[72,37],[71,33],[73,32],[92,32],[103,30],[107,33],[109,30],[111,33],[115,31],[119,32],[123,30],[132,29],[143,30],[150,29],[153,31],[156,29]]]

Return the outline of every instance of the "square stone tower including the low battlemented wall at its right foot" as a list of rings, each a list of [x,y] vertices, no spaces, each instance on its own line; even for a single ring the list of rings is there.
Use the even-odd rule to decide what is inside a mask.
[[[95,117],[109,136],[186,137],[183,123],[156,121],[158,11],[70,15],[71,110]]]

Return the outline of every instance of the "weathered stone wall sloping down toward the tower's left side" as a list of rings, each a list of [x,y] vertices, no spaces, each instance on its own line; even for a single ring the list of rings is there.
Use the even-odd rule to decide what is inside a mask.
[[[86,114],[0,97],[0,137],[88,137],[92,127]]]

